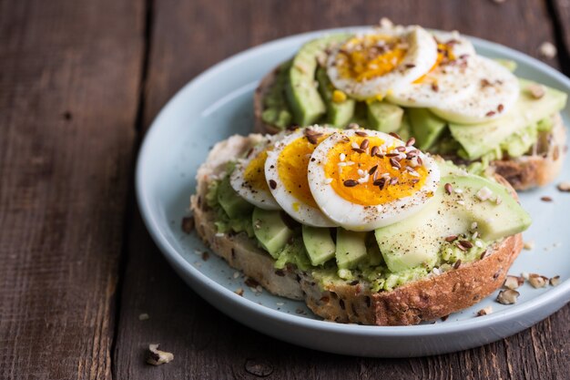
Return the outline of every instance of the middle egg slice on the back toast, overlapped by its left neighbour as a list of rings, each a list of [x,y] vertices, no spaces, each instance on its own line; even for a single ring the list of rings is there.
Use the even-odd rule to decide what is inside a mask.
[[[475,92],[478,84],[472,57],[473,44],[458,32],[433,32],[437,60],[430,71],[407,86],[387,95],[392,103],[404,107],[439,107],[453,104]]]

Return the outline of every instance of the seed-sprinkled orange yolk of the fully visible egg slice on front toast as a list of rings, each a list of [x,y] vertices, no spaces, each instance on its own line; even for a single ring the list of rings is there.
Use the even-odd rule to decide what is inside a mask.
[[[364,139],[368,139],[369,148],[364,152],[355,150],[353,144],[360,147]],[[412,159],[401,159],[398,161],[401,168],[395,169],[390,157],[371,156],[372,148],[381,147],[382,144],[384,141],[377,137],[353,136],[350,141],[341,141],[329,150],[325,174],[327,179],[332,180],[331,187],[341,198],[362,206],[376,206],[409,197],[422,189],[427,169],[421,165],[412,168]],[[386,153],[397,152],[394,148],[389,147]],[[372,169],[374,167],[376,169]],[[412,168],[413,172],[406,167]],[[389,178],[381,189],[381,186],[374,185],[374,179],[381,180],[382,174],[384,178]],[[362,180],[366,175],[369,179]],[[392,179],[397,179],[397,182],[393,180],[395,183],[391,183]]]

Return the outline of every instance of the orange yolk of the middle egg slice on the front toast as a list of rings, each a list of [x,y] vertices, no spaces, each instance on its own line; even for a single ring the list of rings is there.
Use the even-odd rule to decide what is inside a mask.
[[[315,208],[317,203],[310,193],[307,167],[312,152],[328,136],[319,136],[316,138],[316,144],[312,144],[306,137],[295,139],[281,151],[277,159],[277,171],[285,189],[293,197]],[[298,207],[299,205],[295,208]]]

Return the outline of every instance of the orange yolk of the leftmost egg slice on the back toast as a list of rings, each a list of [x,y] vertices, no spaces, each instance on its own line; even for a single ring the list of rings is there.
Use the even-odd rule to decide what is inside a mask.
[[[382,77],[400,65],[407,48],[393,36],[353,37],[341,46],[337,68],[341,77],[357,82]]]

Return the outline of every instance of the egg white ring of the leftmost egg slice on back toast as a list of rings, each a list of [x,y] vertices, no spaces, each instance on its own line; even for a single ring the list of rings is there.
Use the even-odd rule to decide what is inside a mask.
[[[364,100],[378,96],[384,97],[390,91],[422,77],[433,67],[437,59],[437,45],[433,36],[421,26],[384,28],[368,33],[368,35],[371,34],[402,37],[409,48],[400,65],[391,72],[361,82],[341,76],[337,67],[337,56],[341,47],[334,50],[327,61],[327,74],[334,87],[341,89],[352,98]]]

